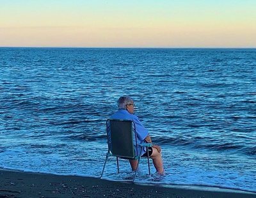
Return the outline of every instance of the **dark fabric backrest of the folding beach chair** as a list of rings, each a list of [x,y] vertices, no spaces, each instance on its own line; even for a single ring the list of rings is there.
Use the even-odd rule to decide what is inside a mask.
[[[135,125],[131,120],[107,120],[108,149],[112,155],[121,158],[135,158]],[[135,148],[136,149],[136,148]]]

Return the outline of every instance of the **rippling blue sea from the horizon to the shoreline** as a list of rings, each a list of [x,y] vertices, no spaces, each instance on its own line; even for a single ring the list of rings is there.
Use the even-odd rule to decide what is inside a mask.
[[[255,84],[256,49],[0,48],[0,168],[99,177],[129,95],[166,171],[142,161],[137,182],[256,192]],[[120,164],[104,178],[131,177]]]

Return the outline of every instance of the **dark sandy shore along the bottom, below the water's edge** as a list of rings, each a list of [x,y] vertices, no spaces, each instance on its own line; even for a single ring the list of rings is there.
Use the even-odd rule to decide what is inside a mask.
[[[0,169],[0,198],[6,197],[254,197],[222,188],[138,185],[79,176],[56,176]]]

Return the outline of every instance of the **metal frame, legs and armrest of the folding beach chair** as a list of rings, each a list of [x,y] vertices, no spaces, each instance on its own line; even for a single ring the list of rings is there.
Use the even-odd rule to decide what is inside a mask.
[[[137,155],[135,154],[135,152],[133,152],[133,153],[134,153],[133,156],[121,156],[121,155],[115,155],[115,154],[112,153],[111,142],[113,142],[113,141],[109,142],[109,139],[111,139],[111,121],[125,121],[125,122],[130,122],[130,123],[131,123],[131,135],[132,135],[132,133],[134,132],[135,141],[136,141],[136,153],[137,153]],[[108,126],[108,123],[109,123],[110,126]],[[133,130],[132,126],[134,126],[134,130]],[[108,127],[110,128],[110,133],[108,132]],[[101,173],[100,178],[102,178],[102,176],[103,176],[104,169],[105,169],[105,167],[106,167],[106,163],[107,163],[107,161],[108,161],[108,158],[109,158],[110,156],[116,156],[116,165],[117,165],[117,172],[118,172],[118,173],[120,172],[120,170],[119,170],[118,158],[125,158],[125,159],[127,159],[127,160],[138,160],[138,165],[137,165],[137,167],[136,167],[136,171],[135,171],[134,176],[133,176],[133,179],[132,179],[132,182],[134,182],[134,179],[136,178],[136,174],[137,174],[137,172],[138,172],[138,167],[139,167],[140,158],[141,158],[141,153],[140,153],[140,155],[138,155],[138,146],[141,146],[141,147],[144,147],[144,146],[145,146],[145,147],[147,147],[148,175],[150,175],[150,164],[149,164],[148,147],[152,146],[152,143],[138,144],[137,139],[136,139],[136,137],[137,137],[137,132],[136,132],[135,123],[134,123],[133,121],[127,120],[127,119],[107,119],[107,121],[106,121],[106,131],[107,131],[107,136],[108,136],[108,153],[106,154],[106,160],[105,160],[105,162],[104,162],[104,166],[103,166],[103,169],[102,169],[102,173]],[[110,136],[110,137],[109,137],[109,136]],[[131,144],[131,147],[132,147],[132,149],[133,149],[133,151],[134,151],[133,135],[132,135],[132,144]],[[141,149],[141,151],[142,151],[142,149]]]

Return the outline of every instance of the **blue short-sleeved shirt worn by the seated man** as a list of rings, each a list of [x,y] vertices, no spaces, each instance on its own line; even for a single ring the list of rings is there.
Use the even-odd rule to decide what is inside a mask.
[[[148,130],[142,125],[140,119],[137,116],[135,116],[134,114],[130,114],[127,110],[119,109],[118,112],[113,114],[110,118],[111,119],[129,119],[133,121],[136,128],[136,133],[137,133],[136,140],[138,144],[145,142],[144,139],[148,135]],[[136,146],[136,144],[134,144],[134,146]],[[138,153],[143,155],[145,152],[146,152],[145,147],[141,148],[141,146],[138,146]]]

